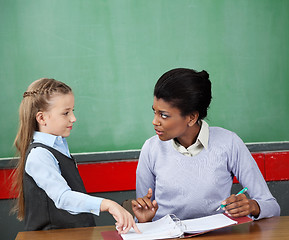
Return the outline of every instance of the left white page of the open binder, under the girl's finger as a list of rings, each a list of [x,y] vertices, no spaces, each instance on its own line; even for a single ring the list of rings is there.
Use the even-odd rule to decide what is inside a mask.
[[[182,231],[177,227],[170,215],[166,215],[154,222],[137,223],[136,225],[142,232],[141,234],[136,233],[134,229],[131,228],[128,233],[121,234],[121,237],[124,240],[151,240],[174,238],[182,235]]]

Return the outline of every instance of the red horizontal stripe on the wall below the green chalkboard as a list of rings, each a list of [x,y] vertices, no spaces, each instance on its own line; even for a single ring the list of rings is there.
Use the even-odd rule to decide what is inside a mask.
[[[266,181],[289,180],[289,152],[252,153]],[[78,164],[88,193],[135,190],[137,160]],[[10,194],[13,169],[0,169],[0,199]],[[234,179],[234,182],[238,182]]]

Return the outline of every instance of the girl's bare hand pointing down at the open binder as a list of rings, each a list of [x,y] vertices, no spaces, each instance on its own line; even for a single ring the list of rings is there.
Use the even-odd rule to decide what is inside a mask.
[[[118,203],[103,199],[100,205],[100,211],[107,211],[114,217],[119,234],[127,233],[131,227],[133,227],[137,233],[140,233],[132,215]]]

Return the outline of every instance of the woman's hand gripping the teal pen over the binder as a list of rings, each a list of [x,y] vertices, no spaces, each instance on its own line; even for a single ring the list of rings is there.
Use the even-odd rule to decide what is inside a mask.
[[[258,217],[260,214],[260,207],[255,200],[248,199],[245,194],[232,194],[222,204],[225,207],[225,213],[232,217],[243,217],[252,215]]]

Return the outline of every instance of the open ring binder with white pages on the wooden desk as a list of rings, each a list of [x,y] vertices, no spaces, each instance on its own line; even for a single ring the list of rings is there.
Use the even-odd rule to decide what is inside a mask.
[[[241,223],[250,221],[252,219],[245,217],[245,220],[243,218]],[[172,215],[166,215],[154,222],[137,223],[139,230],[142,232],[141,234],[136,233],[132,228],[127,234],[122,234],[121,237],[124,240],[178,238],[184,237],[186,234],[191,234],[190,236],[198,235],[238,223],[238,221],[232,220],[222,213],[182,221]]]

